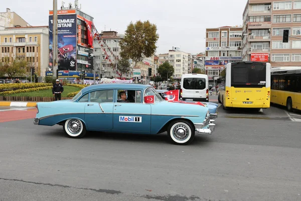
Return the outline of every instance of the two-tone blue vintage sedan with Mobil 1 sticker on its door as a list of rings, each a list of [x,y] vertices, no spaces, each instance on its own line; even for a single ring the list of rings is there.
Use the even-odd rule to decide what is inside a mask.
[[[129,103],[120,103],[125,91]],[[212,134],[215,124],[208,108],[171,103],[153,86],[144,84],[97,84],[83,88],[71,100],[38,103],[35,125],[62,125],[70,138],[86,131],[159,134],[168,132],[175,144],[189,144],[196,134]]]

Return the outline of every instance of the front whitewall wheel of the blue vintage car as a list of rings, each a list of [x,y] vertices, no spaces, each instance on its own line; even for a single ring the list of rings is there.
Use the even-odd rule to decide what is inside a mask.
[[[195,136],[194,126],[185,120],[173,121],[167,129],[170,140],[177,145],[188,145]]]

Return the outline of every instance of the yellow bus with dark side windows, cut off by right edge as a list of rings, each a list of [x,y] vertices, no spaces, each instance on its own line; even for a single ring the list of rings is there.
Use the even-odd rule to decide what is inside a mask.
[[[271,103],[301,110],[301,67],[271,69]]]

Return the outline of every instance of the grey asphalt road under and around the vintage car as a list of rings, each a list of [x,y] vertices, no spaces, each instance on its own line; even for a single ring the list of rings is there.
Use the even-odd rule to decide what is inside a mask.
[[[301,200],[300,117],[219,108],[215,133],[189,146],[3,122],[0,200]]]

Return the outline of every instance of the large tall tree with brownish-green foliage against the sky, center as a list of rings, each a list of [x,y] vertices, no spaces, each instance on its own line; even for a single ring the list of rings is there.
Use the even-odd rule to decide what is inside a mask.
[[[120,56],[132,59],[134,65],[142,61],[143,57],[151,57],[155,54],[159,39],[157,26],[148,20],[145,22],[132,22],[127,26],[124,38],[120,41]]]

